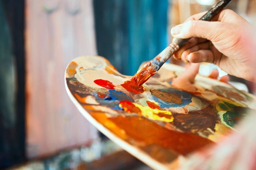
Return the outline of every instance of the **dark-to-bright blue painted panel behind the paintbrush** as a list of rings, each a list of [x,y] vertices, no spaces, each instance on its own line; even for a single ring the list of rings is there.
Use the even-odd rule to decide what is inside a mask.
[[[94,0],[98,54],[123,74],[167,45],[168,0]]]

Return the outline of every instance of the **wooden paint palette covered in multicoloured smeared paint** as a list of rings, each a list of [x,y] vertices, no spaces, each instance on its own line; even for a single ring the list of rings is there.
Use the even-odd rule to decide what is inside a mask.
[[[66,90],[79,111],[98,130],[154,169],[210,147],[235,130],[253,95],[196,76],[196,92],[171,85],[183,67],[165,63],[143,87],[134,88],[100,56],[74,59],[66,68]]]

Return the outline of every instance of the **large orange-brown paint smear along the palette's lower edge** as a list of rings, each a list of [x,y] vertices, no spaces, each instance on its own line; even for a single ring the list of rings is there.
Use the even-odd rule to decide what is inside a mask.
[[[138,144],[144,144],[144,146],[156,144],[178,154],[186,155],[207,144],[213,144],[213,142],[207,138],[202,138],[195,134],[168,130],[143,117],[107,117],[103,113],[91,113],[91,115],[98,122],[114,132],[114,134],[118,135],[123,131],[126,134],[125,136],[128,142],[129,139],[130,141],[135,140]],[[115,126],[108,126],[109,121]],[[124,136],[124,134],[122,134],[122,136]]]

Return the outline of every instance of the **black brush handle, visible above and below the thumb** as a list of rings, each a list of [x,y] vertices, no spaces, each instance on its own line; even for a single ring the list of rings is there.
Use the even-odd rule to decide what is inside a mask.
[[[206,14],[204,14],[199,20],[203,21],[210,21],[214,16],[216,16],[220,10],[225,8],[226,5],[228,5],[232,0],[220,0],[217,4],[215,4]],[[181,48],[188,40],[191,38],[181,39],[177,38],[174,40],[174,42],[179,45]]]

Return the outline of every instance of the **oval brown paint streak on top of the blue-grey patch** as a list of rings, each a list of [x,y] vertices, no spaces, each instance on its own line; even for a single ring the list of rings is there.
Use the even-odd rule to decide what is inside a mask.
[[[157,97],[163,101],[166,101],[168,103],[175,103],[178,105],[181,105],[183,103],[182,99],[180,99],[180,97],[178,97],[175,94],[163,92],[163,91],[156,90],[156,89],[150,89],[150,93],[152,95],[154,95],[155,97]]]

